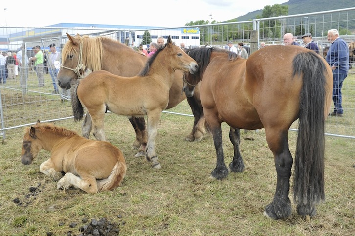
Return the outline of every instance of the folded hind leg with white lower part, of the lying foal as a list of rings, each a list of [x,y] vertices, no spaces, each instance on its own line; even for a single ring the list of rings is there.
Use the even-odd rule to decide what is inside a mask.
[[[68,189],[74,186],[77,189],[81,189],[87,193],[97,193],[97,182],[92,176],[83,176],[83,178],[76,176],[72,173],[66,173],[63,178],[58,181],[57,189]]]

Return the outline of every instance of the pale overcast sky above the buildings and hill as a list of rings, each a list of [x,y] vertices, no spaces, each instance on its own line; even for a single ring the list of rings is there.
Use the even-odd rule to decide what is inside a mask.
[[[288,0],[1,0],[0,25],[45,27],[84,23],[180,27],[198,20],[222,22],[266,5],[285,2]]]

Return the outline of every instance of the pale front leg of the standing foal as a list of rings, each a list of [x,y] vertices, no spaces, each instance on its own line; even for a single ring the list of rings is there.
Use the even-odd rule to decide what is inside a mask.
[[[146,149],[146,159],[152,162],[155,169],[161,168],[158,157],[155,154],[155,138],[158,131],[158,124],[161,116],[161,110],[151,111],[147,114],[148,120],[148,143]]]

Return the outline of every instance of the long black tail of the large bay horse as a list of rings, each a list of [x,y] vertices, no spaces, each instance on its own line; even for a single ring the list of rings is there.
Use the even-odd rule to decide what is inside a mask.
[[[293,197],[306,208],[324,200],[326,66],[314,52],[300,53],[293,60],[293,75],[303,74]]]

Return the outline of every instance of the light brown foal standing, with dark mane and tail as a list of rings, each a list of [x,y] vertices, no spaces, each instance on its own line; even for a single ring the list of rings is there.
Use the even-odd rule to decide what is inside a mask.
[[[95,138],[105,140],[106,110],[118,115],[147,115],[148,143],[144,147],[145,156],[154,168],[160,168],[155,154],[155,138],[161,112],[169,102],[175,70],[195,73],[198,65],[174,45],[169,36],[165,47],[148,60],[145,69],[137,76],[123,77],[99,70],[82,79],[72,97],[74,119],[80,120],[84,113],[83,106],[86,107],[92,119]],[[87,135],[84,133],[84,136]]]

